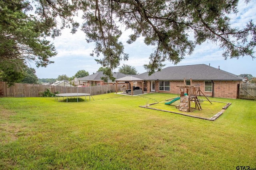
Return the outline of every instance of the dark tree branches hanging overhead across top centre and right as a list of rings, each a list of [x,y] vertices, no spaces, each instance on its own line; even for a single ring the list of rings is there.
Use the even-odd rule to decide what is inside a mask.
[[[246,1],[248,2],[248,1]],[[249,21],[244,28],[232,28],[228,14],[237,13],[238,0],[96,0],[91,10],[84,12],[82,30],[88,42],[95,42],[93,54],[104,67],[116,68],[121,59],[127,60],[119,25],[132,29],[128,43],[143,36],[146,45],[155,47],[149,64],[144,67],[152,74],[164,61],[174,64],[192,54],[196,45],[205,41],[219,43],[224,59],[250,56],[254,58],[256,27]],[[194,34],[194,40],[188,33]],[[251,38],[250,38],[251,37]],[[92,54],[92,55],[93,55]]]

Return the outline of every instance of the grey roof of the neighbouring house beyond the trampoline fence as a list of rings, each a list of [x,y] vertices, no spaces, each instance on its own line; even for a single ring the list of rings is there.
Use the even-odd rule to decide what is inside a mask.
[[[120,73],[120,72],[112,72],[114,78],[122,78],[126,76],[126,74]],[[89,76],[85,76],[82,78],[78,78],[78,80],[94,80],[94,81],[101,81],[101,77],[104,77],[105,75],[103,74],[102,71],[96,72],[94,74],[91,74]],[[113,83],[112,80],[108,80],[108,83]]]

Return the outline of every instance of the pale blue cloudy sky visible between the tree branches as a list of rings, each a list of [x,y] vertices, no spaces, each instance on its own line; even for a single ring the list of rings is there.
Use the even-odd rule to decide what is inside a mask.
[[[248,4],[244,1],[238,3],[238,14],[230,14],[231,22],[234,27],[244,28],[248,21],[252,20],[256,24],[256,0],[251,0]],[[136,68],[138,73],[144,73],[146,70],[143,65],[149,63],[149,56],[154,51],[154,47],[144,44],[144,38],[140,37],[132,44],[126,43],[130,30],[124,31],[120,37],[124,45],[124,53],[128,53],[128,61],[121,61],[120,66],[128,64]],[[86,42],[85,34],[78,30],[77,33],[70,33],[69,29],[64,29],[60,37],[50,40],[56,48],[57,55],[50,58],[54,61],[47,67],[36,68],[34,63],[30,63],[36,70],[38,78],[57,78],[59,75],[66,74],[68,77],[74,76],[78,70],[86,70],[89,74],[97,72],[100,64],[90,56],[94,49],[94,43]],[[256,50],[256,49],[255,49]],[[232,74],[252,74],[256,77],[256,59],[250,56],[240,57],[239,59],[227,59],[222,57],[223,50],[217,44],[210,41],[196,46],[192,55],[187,55],[180,63],[174,65],[169,61],[164,62],[166,66],[184,66],[193,64],[207,64],[214,68],[230,72]],[[254,54],[256,57],[256,54]],[[120,67],[119,66],[119,67]],[[118,72],[118,68],[115,70]]]

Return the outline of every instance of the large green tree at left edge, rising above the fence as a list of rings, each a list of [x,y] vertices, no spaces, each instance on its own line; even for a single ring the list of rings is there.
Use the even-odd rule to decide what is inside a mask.
[[[25,0],[0,1],[0,62],[16,63],[17,67],[9,81],[20,80],[22,66],[34,61],[36,66],[47,66],[57,53],[50,41],[46,40],[55,26],[51,20],[40,21],[27,15],[32,6]],[[7,74],[6,74],[7,75]],[[15,78],[16,77],[16,78]]]

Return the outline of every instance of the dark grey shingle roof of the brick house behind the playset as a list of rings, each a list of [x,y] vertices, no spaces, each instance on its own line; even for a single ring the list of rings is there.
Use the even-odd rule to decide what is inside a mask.
[[[144,72],[136,77],[144,80],[184,80],[184,78],[192,78],[192,80],[243,80],[240,76],[206,64],[171,66],[150,76],[148,76],[148,72]]]

